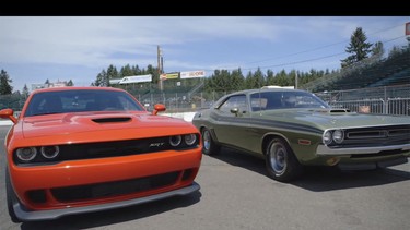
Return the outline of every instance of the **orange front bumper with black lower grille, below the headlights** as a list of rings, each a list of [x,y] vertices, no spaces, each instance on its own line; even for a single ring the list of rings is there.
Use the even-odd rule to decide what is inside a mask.
[[[10,167],[17,198],[28,210],[57,210],[130,201],[188,186],[201,149]]]

